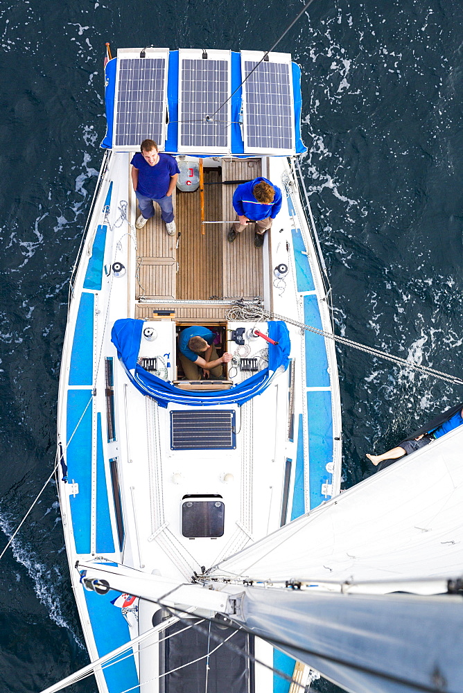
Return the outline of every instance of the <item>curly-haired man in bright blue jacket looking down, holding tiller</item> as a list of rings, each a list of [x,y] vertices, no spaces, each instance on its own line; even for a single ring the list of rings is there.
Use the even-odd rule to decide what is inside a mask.
[[[281,190],[266,178],[254,178],[238,185],[233,195],[233,207],[238,221],[228,232],[229,243],[241,234],[250,220],[256,222],[254,245],[263,246],[263,234],[272,226],[272,220],[281,209]]]

